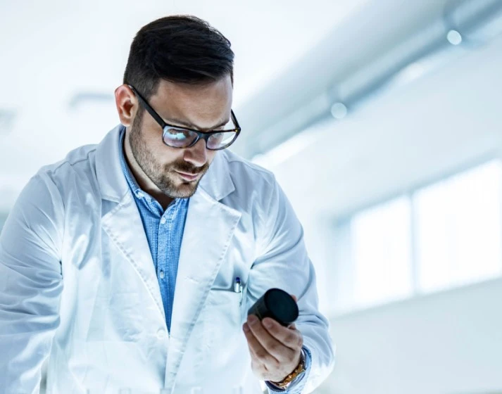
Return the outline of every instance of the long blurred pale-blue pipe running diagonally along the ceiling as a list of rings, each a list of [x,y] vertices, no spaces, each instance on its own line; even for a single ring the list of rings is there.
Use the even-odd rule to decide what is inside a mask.
[[[443,18],[369,63],[270,127],[253,134],[244,156],[263,156],[295,134],[334,117],[341,119],[397,83],[409,82],[451,58],[455,45],[484,44],[502,32],[501,0],[453,0]],[[454,36],[460,37],[455,39]],[[457,37],[458,37],[457,36]],[[453,41],[453,42],[452,42]],[[342,110],[344,108],[344,110]],[[345,112],[345,113],[344,113]],[[343,113],[343,115],[341,115]],[[241,153],[243,154],[243,153]]]

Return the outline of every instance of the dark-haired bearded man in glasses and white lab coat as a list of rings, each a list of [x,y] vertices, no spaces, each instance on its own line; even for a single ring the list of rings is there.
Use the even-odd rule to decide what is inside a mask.
[[[330,373],[301,225],[270,172],[225,150],[233,58],[198,18],[146,25],[121,125],[20,193],[0,236],[1,393],[37,393],[44,361],[64,394],[307,393]],[[298,297],[296,326],[247,317],[268,288]]]

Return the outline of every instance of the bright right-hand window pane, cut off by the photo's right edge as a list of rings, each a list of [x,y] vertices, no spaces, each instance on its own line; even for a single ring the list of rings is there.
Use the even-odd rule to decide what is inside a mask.
[[[419,291],[501,274],[501,201],[499,161],[415,193]]]

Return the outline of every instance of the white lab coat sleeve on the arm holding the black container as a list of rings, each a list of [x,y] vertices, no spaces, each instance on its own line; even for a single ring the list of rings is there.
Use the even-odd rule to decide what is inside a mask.
[[[268,288],[282,288],[296,295],[300,310],[296,328],[312,356],[302,392],[310,393],[332,371],[334,348],[327,319],[318,310],[315,271],[303,242],[303,228],[273,177],[267,191],[255,212],[260,236],[257,257],[249,272],[246,306],[251,307]],[[312,202],[306,197],[306,204]]]

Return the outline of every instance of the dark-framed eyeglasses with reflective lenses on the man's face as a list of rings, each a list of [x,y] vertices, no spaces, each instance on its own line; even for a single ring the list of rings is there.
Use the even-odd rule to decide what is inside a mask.
[[[163,121],[162,117],[158,115],[153,108],[151,108],[150,104],[146,102],[134,87],[131,85],[128,86],[132,89],[139,102],[149,112],[151,117],[162,127],[162,141],[171,148],[190,148],[194,146],[199,139],[204,139],[208,150],[220,151],[232,145],[241,132],[241,127],[239,126],[239,122],[237,122],[233,110],[230,110],[230,122],[223,125],[221,130],[199,132],[199,130],[189,129],[187,127],[169,125]]]

